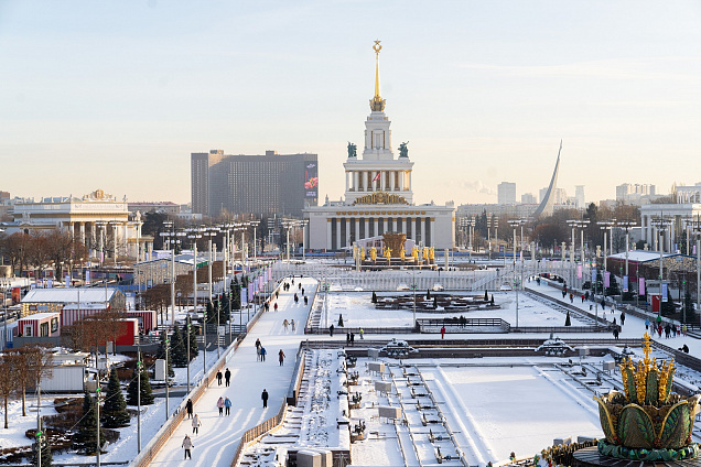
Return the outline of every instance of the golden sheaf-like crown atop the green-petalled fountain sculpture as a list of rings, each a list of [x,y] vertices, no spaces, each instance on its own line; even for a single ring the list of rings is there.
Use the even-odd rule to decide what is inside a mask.
[[[661,366],[657,359],[650,359],[650,335],[643,337],[645,358],[636,363],[627,359],[621,365],[621,374],[626,399],[640,405],[664,405],[671,393],[675,376],[675,360],[665,361]]]

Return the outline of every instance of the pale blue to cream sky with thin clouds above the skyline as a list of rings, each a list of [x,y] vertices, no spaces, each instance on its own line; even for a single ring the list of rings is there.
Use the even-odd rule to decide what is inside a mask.
[[[375,40],[414,200],[701,182],[697,1],[0,0],[0,189],[191,199],[190,154],[363,145]]]

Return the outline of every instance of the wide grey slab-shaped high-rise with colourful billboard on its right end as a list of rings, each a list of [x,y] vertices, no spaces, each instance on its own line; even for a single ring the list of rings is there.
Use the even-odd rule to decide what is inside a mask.
[[[301,216],[319,200],[316,154],[192,153],[192,211]]]

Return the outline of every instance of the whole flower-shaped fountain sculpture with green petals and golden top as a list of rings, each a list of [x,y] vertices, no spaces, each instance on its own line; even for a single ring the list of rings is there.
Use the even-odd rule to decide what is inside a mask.
[[[643,338],[645,358],[630,359],[619,368],[625,393],[611,391],[594,400],[606,438],[598,453],[629,460],[681,460],[699,454],[691,442],[699,398],[682,398],[671,392],[675,361],[650,360],[650,335]]]

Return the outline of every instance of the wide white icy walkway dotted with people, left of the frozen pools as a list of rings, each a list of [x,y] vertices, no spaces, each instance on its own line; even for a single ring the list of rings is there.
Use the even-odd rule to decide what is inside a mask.
[[[305,295],[310,297],[309,305],[304,305],[301,290],[298,289],[300,278],[295,278],[289,292],[281,291],[279,298],[273,297],[270,312],[262,314],[229,360],[230,387],[224,383],[218,385],[216,378],[213,378],[213,383],[195,404],[194,413],[199,415],[202,423],[199,433],[193,435],[192,423],[185,419],[151,465],[229,467],[241,435],[278,413],[292,379],[296,351],[304,339],[304,324],[316,293],[316,280],[304,278],[301,282]],[[294,293],[300,298],[299,304],[294,303]],[[278,312],[272,311],[276,302]],[[294,319],[294,332],[291,327],[284,329],[284,319]],[[256,339],[260,339],[268,352],[265,362],[257,360]],[[280,349],[287,356],[283,366],[278,362]],[[267,409],[262,408],[263,389],[269,393]],[[231,400],[230,416],[219,416],[216,406],[219,397]],[[186,434],[190,434],[194,445],[192,460],[183,460],[184,449],[181,445]]]

